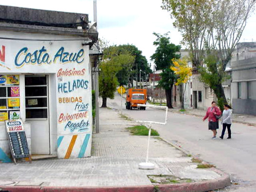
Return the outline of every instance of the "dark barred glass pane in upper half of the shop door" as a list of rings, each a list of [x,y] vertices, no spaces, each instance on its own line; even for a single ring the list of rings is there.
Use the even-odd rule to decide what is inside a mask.
[[[25,76],[26,118],[48,118],[48,76]]]

